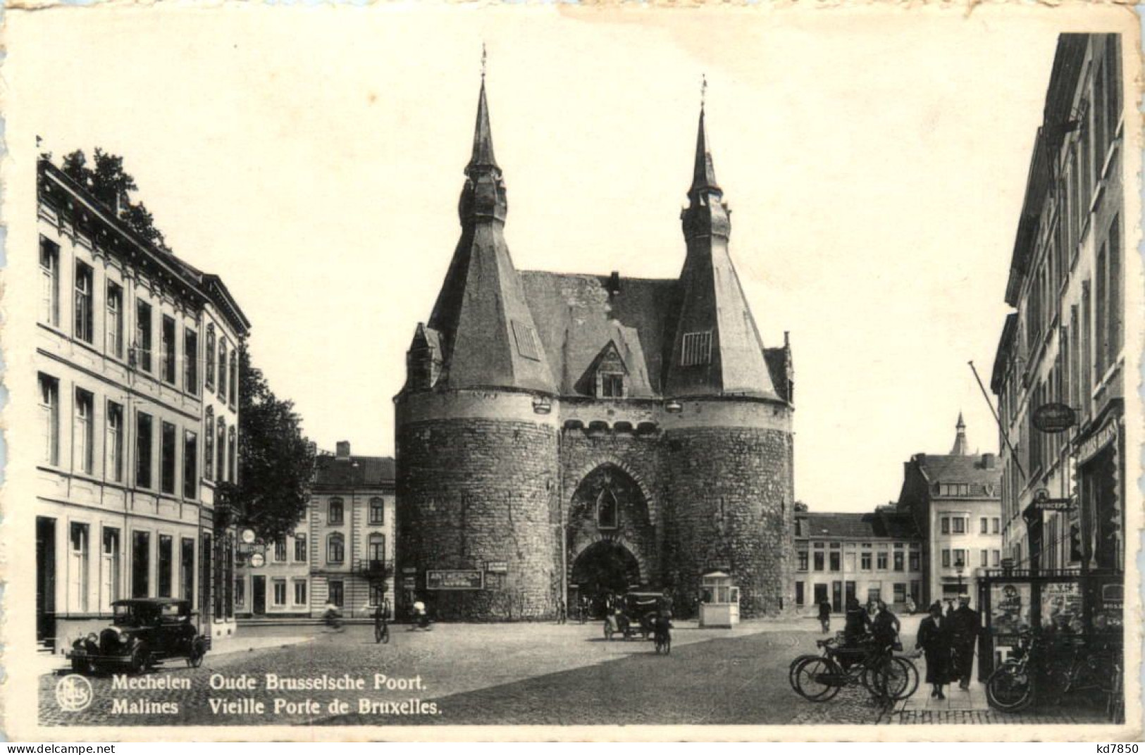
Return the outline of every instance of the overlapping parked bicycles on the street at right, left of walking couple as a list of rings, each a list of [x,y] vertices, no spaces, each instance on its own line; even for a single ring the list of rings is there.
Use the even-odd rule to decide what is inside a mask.
[[[907,658],[894,655],[891,646],[871,641],[846,647],[839,636],[815,641],[821,655],[805,654],[791,661],[788,681],[805,700],[827,702],[844,686],[862,685],[875,698],[893,702],[909,698],[918,689],[918,669]]]

